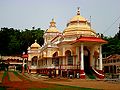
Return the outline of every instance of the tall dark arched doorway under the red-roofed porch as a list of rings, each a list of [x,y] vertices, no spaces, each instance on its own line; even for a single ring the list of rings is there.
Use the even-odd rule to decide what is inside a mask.
[[[90,51],[84,48],[84,71],[86,74],[90,74]]]

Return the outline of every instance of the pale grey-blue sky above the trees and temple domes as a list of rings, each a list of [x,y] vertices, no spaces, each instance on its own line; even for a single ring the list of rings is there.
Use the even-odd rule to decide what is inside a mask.
[[[0,28],[49,28],[52,18],[62,32],[80,7],[97,33],[114,36],[120,23],[120,0],[0,0]]]

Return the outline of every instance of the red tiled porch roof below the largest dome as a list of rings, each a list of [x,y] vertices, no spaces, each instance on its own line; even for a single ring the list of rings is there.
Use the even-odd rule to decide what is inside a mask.
[[[76,42],[99,42],[99,43],[107,43],[107,41],[98,38],[98,37],[80,37],[76,40]]]

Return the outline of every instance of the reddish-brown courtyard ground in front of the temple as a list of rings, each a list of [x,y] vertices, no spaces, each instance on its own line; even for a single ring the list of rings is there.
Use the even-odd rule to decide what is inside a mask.
[[[16,71],[0,71],[0,90],[119,90],[114,80],[47,78]]]

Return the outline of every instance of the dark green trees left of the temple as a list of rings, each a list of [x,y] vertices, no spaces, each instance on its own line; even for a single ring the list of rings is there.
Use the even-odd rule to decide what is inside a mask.
[[[35,39],[43,45],[44,30],[33,28],[34,30],[17,30],[13,28],[1,28],[0,30],[0,54],[1,55],[21,55],[26,52],[28,46],[34,43]]]

